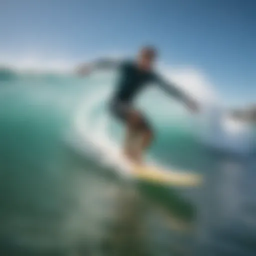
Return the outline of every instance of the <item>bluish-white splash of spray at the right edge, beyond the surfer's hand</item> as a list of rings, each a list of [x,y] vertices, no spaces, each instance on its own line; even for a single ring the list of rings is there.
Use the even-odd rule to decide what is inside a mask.
[[[205,145],[239,155],[253,151],[255,134],[250,123],[234,119],[218,105],[205,105],[200,117],[197,135]]]

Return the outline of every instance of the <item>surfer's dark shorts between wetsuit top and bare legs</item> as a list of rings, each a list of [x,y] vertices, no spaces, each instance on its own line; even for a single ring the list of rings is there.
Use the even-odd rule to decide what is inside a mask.
[[[140,116],[138,123],[138,129],[152,130],[146,117],[137,109],[134,109],[131,103],[122,100],[111,100],[109,104],[109,110],[112,116],[118,120],[126,123],[131,112],[136,111]]]

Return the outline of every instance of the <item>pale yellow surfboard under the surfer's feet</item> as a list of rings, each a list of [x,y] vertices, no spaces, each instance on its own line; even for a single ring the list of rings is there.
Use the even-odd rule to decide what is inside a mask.
[[[197,186],[202,177],[195,173],[164,170],[150,165],[133,165],[133,176],[138,180],[162,185]]]

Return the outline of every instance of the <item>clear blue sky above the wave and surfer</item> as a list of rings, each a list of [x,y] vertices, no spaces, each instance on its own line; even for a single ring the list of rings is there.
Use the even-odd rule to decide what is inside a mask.
[[[223,95],[256,100],[254,0],[1,0],[0,54],[83,60],[155,44]]]

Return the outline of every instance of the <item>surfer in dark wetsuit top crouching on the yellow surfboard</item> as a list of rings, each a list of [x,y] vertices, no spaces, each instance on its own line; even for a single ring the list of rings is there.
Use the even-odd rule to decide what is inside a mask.
[[[190,110],[197,110],[197,103],[174,84],[167,83],[154,70],[157,52],[144,46],[135,61],[123,61],[119,65],[120,78],[110,100],[110,113],[126,126],[123,153],[130,160],[140,163],[142,153],[153,139],[153,129],[145,116],[134,107],[133,100],[146,84],[158,84],[165,92],[183,102]]]

